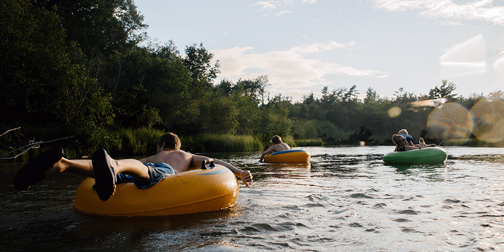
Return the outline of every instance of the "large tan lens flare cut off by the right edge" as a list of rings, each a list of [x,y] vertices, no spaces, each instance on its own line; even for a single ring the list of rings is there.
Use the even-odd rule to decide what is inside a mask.
[[[470,112],[474,118],[475,137],[491,143],[504,139],[504,101],[482,99]]]

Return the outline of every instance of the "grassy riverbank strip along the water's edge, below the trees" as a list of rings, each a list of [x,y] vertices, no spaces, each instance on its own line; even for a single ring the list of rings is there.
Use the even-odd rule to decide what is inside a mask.
[[[97,148],[104,148],[112,156],[148,156],[156,152],[155,142],[164,133],[147,128],[101,131],[82,144],[80,138],[66,136],[61,132],[58,135],[51,129],[17,128],[0,137],[0,161],[27,161],[54,145],[63,147],[67,158],[86,158]],[[270,145],[269,142],[261,141],[259,136],[251,135],[203,134],[179,138],[181,149],[192,153],[264,151]],[[294,140],[285,137],[284,142],[292,147],[324,145],[321,139]],[[23,153],[24,151],[26,152]]]

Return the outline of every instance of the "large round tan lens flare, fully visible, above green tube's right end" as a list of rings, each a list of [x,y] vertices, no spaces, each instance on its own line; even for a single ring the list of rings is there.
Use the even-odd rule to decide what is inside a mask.
[[[466,141],[471,135],[473,121],[469,111],[457,103],[445,103],[429,114],[427,130],[436,139]]]

